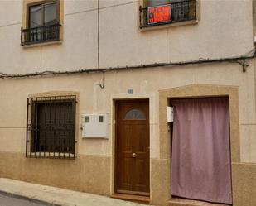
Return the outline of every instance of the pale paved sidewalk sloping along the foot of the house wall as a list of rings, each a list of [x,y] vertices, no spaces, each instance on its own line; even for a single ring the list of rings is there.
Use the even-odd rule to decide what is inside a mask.
[[[6,178],[0,178],[0,194],[56,206],[145,206],[145,204],[111,199],[101,195],[80,193]]]

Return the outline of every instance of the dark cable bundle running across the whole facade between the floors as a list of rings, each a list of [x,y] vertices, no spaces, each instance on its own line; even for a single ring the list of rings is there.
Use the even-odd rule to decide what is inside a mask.
[[[166,67],[167,69],[173,66],[185,66],[185,65],[201,65],[201,64],[212,64],[212,63],[235,63],[242,66],[243,72],[246,72],[249,63],[247,60],[254,59],[256,57],[256,50],[249,51],[246,55],[240,55],[236,57],[220,58],[220,59],[200,59],[191,61],[180,61],[180,62],[167,62],[167,63],[154,63],[154,64],[144,64],[144,65],[126,65],[126,66],[116,66],[109,68],[97,68],[97,69],[79,69],[70,71],[43,71],[34,72],[26,74],[4,74],[0,72],[0,79],[10,79],[10,78],[26,78],[26,77],[36,77],[36,76],[49,76],[49,75],[60,75],[60,74],[82,74],[82,73],[102,73],[103,74],[103,84],[99,84],[100,88],[104,88],[105,73],[109,71],[122,71],[129,69],[151,69],[157,67]]]

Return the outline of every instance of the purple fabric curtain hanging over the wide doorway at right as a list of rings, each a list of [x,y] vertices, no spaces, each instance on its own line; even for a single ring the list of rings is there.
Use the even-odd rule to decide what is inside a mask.
[[[232,204],[229,99],[173,99],[171,194]]]

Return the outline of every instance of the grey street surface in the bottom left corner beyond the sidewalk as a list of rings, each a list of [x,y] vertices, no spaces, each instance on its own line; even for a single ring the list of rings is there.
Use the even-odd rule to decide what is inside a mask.
[[[27,199],[18,199],[0,194],[0,206],[45,206],[46,204],[33,203]]]

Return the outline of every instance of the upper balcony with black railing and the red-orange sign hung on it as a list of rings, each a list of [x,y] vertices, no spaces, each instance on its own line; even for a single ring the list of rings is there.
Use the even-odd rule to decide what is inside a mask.
[[[157,14],[151,13],[152,8],[154,7],[139,7],[141,29],[177,22],[196,21],[196,0],[176,1],[171,4],[155,7],[155,11],[162,12]]]

